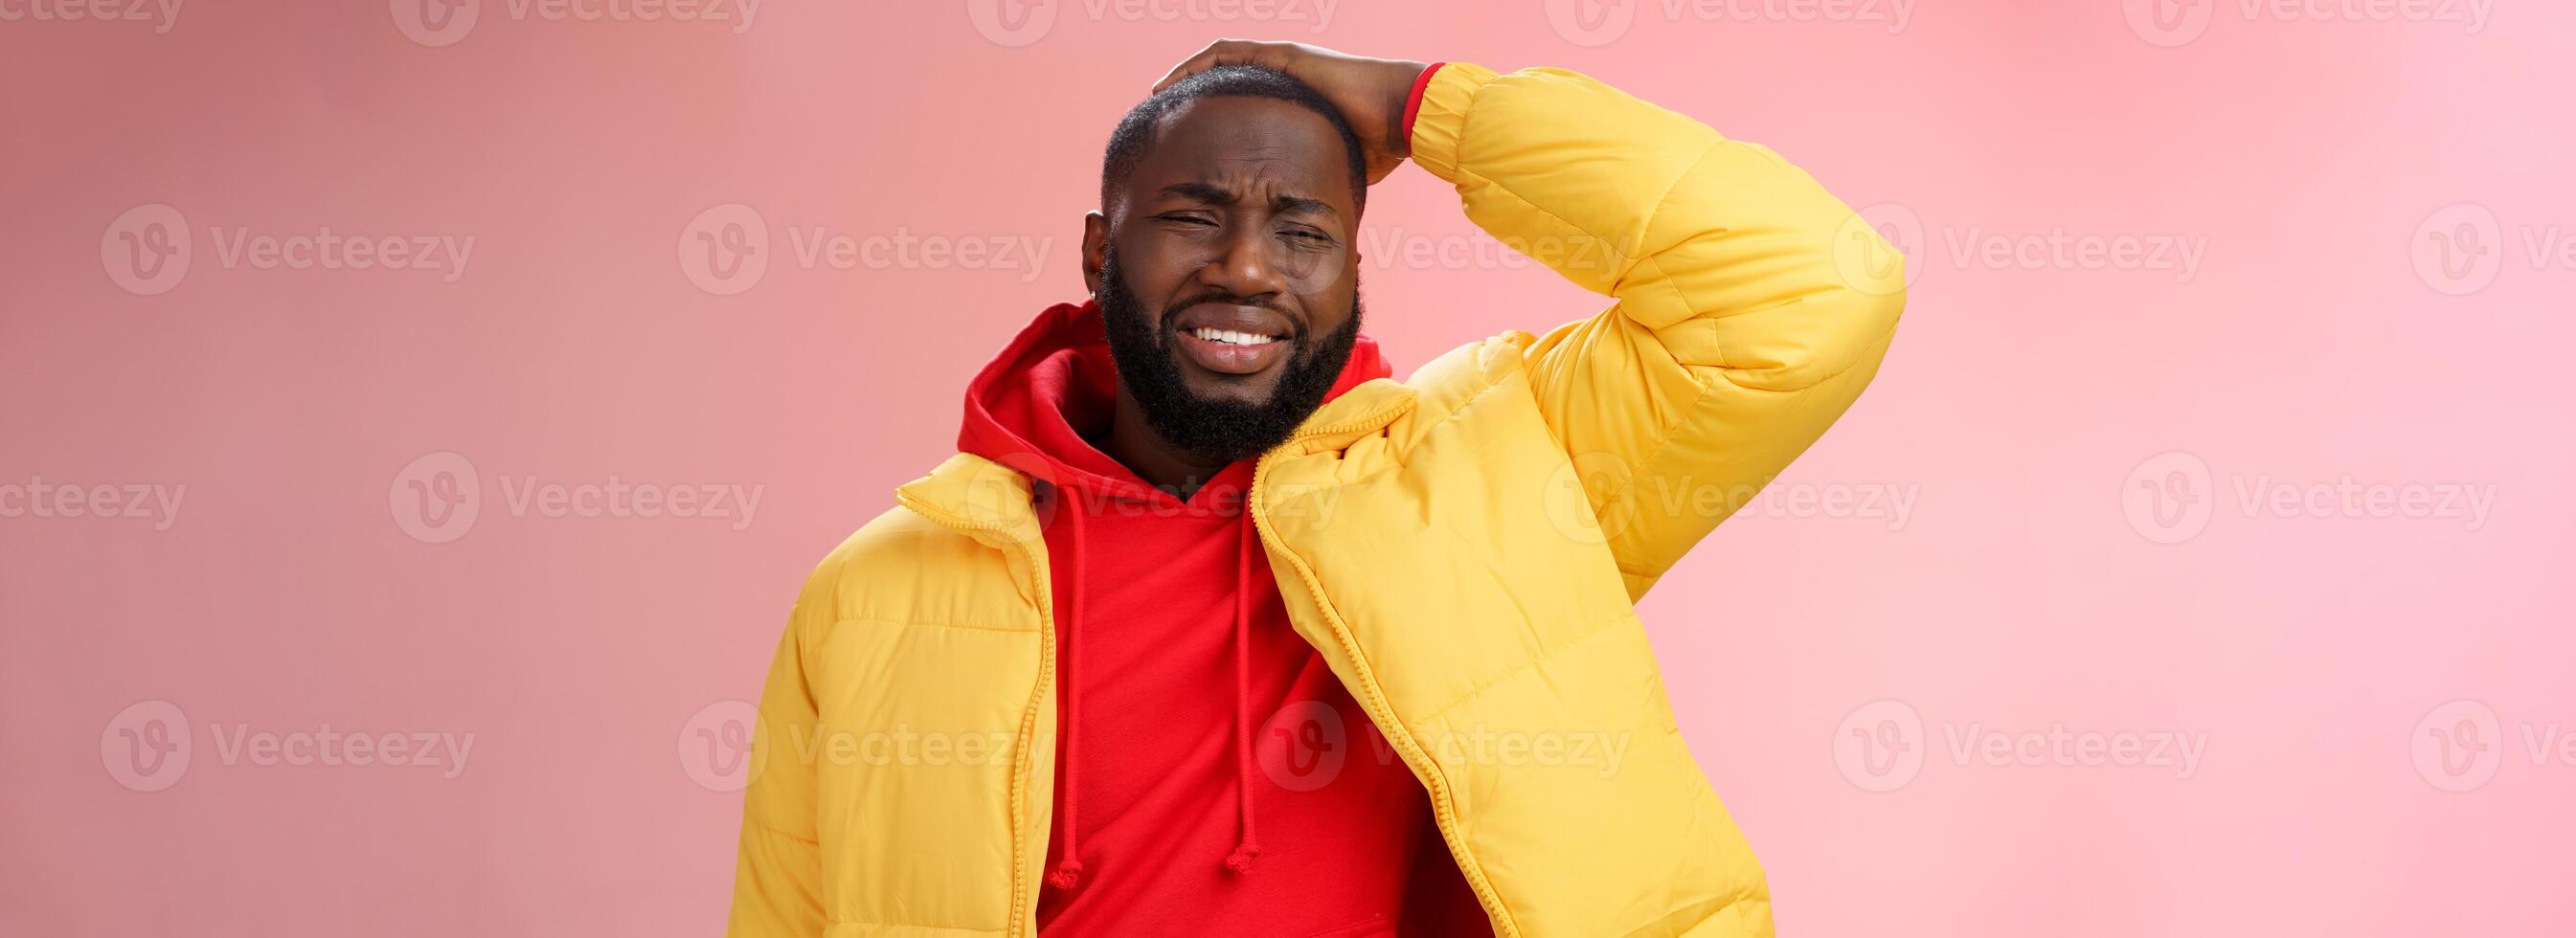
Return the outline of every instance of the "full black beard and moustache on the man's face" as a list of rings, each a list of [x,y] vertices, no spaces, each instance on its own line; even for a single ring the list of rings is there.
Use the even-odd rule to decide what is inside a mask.
[[[1118,271],[1118,247],[1100,258],[1100,322],[1110,340],[1110,358],[1118,363],[1118,381],[1128,397],[1136,397],[1154,436],[1203,461],[1231,464],[1267,454],[1324,405],[1332,381],[1342,376],[1350,348],[1360,338],[1358,283],[1352,283],[1350,320],[1342,327],[1321,340],[1306,327],[1296,330],[1280,384],[1265,402],[1206,399],[1182,384],[1180,358],[1172,348],[1175,332],[1164,325],[1203,299],[1211,296],[1193,296],[1175,309],[1149,314]],[[1239,296],[1221,296],[1221,302],[1270,307]]]

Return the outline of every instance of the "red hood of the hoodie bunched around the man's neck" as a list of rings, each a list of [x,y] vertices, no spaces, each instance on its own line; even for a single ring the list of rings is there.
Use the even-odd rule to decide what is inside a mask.
[[[1378,343],[1363,332],[1324,399],[1388,374]],[[1159,490],[1092,446],[1115,407],[1118,363],[1110,358],[1100,304],[1054,304],[966,384],[958,451],[1059,487],[1157,497]]]

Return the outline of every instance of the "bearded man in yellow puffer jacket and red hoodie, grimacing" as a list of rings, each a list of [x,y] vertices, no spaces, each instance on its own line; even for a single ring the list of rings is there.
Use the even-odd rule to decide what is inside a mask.
[[[1404,160],[1607,309],[1388,379]],[[1633,603],[1860,397],[1891,258],[1584,75],[1211,44],[1110,134],[1090,302],[796,598],[729,933],[1770,935]]]

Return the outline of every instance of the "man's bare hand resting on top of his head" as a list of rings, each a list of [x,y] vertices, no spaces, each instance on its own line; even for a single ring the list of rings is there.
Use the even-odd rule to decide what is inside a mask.
[[[1404,134],[1404,103],[1414,93],[1414,77],[1430,67],[1425,62],[1368,59],[1301,41],[1218,39],[1175,64],[1154,82],[1154,90],[1218,64],[1260,64],[1311,85],[1342,111],[1350,131],[1360,137],[1370,186],[1412,155],[1412,139]]]

